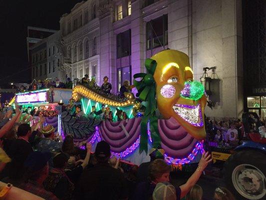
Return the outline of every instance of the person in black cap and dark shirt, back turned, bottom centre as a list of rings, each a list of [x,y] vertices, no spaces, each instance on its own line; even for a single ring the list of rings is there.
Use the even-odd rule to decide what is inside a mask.
[[[94,155],[97,164],[84,170],[76,185],[75,199],[127,199],[128,188],[123,174],[108,163],[110,145],[106,141],[98,142]]]

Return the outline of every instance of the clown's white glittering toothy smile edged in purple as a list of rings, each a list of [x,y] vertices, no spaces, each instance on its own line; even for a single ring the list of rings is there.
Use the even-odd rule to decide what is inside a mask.
[[[200,104],[198,105],[183,105],[176,104],[173,106],[175,112],[185,121],[198,127],[203,126],[203,119]]]

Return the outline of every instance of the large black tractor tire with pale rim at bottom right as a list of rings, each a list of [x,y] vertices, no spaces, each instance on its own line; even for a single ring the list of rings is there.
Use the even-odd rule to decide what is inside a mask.
[[[231,155],[225,163],[227,188],[236,199],[266,199],[266,153],[243,149]]]

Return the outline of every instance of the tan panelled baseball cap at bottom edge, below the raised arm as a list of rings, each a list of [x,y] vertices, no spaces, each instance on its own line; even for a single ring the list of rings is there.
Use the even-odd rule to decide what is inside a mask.
[[[169,182],[159,182],[152,197],[153,200],[176,200],[176,188]]]

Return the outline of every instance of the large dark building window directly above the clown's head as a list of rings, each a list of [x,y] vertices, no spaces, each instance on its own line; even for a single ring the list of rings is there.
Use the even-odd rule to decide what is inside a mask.
[[[147,22],[146,43],[147,50],[168,44],[167,14]]]

